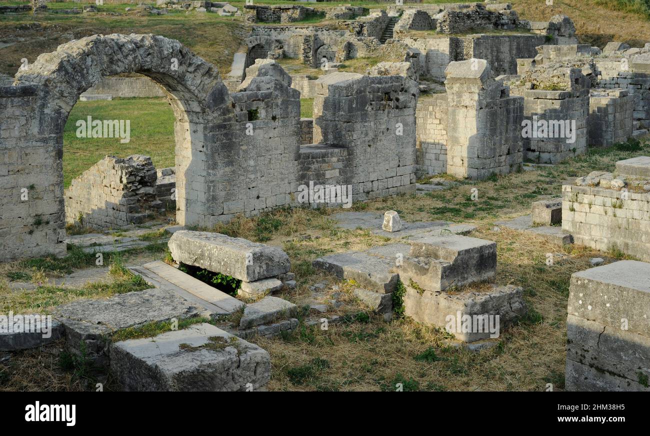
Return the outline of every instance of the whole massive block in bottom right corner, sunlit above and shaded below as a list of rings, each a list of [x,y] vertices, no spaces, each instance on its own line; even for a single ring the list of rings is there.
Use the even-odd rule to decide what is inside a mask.
[[[650,264],[618,261],[571,276],[567,391],[650,391]]]

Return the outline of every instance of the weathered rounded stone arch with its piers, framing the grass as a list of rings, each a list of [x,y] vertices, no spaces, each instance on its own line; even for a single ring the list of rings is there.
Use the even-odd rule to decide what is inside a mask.
[[[94,35],[62,44],[40,55],[16,74],[16,89],[31,89],[29,139],[19,153],[38,153],[43,161],[39,213],[56,237],[64,237],[63,130],[79,95],[102,77],[140,73],[160,84],[174,110],[177,222],[203,224],[211,213],[204,149],[214,118],[227,113],[229,94],[218,70],[176,40],[162,36]],[[20,146],[19,146],[20,147]],[[30,212],[30,215],[32,213]],[[44,241],[44,245],[61,241]],[[52,250],[59,251],[60,250]],[[62,251],[65,251],[63,248]]]

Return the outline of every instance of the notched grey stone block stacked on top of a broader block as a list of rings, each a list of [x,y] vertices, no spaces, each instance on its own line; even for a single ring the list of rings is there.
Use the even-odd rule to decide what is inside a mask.
[[[493,241],[441,235],[409,239],[411,251],[397,270],[405,285],[411,281],[426,290],[445,290],[491,280],[497,269]]]

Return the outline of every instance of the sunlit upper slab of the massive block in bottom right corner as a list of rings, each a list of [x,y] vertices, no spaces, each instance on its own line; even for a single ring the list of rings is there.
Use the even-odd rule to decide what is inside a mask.
[[[567,313],[650,337],[650,263],[618,261],[571,276]]]

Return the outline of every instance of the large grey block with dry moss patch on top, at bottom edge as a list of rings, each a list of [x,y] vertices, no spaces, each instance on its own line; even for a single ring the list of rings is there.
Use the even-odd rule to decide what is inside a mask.
[[[125,391],[254,391],[271,375],[268,352],[196,324],[110,345],[110,370]]]

